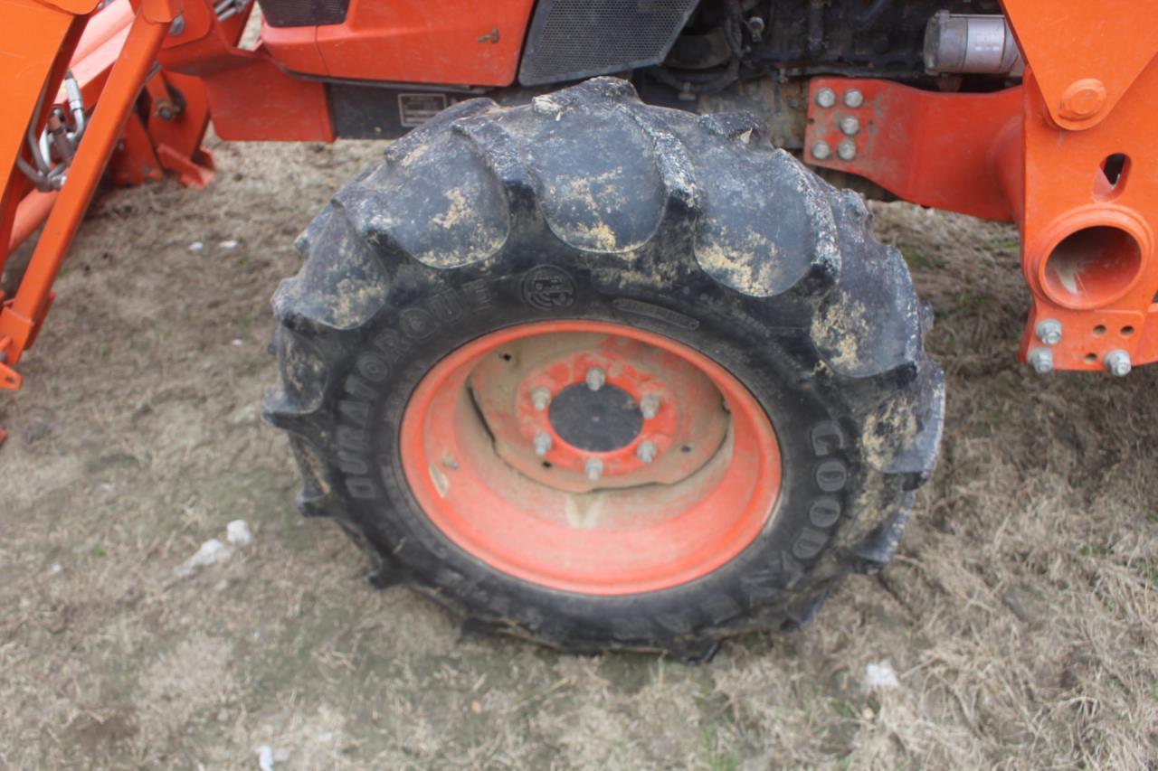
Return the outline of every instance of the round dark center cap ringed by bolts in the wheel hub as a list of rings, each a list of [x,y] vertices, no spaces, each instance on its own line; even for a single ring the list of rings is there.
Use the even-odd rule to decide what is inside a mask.
[[[559,439],[588,453],[610,453],[636,440],[644,416],[617,386],[593,391],[585,383],[563,389],[551,402],[551,427]]]

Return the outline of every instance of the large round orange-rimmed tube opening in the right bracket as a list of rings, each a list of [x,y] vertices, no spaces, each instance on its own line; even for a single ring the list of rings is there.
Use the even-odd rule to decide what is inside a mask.
[[[1062,238],[1041,267],[1042,288],[1067,308],[1099,308],[1122,296],[1142,272],[1142,248],[1122,228],[1107,225]]]

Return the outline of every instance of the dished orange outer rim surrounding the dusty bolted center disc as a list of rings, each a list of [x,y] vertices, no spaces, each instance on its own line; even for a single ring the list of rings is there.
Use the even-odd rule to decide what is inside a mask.
[[[601,337],[593,353],[604,359],[628,342],[702,373],[716,389],[711,406],[718,409],[720,398],[728,406],[727,441],[701,469],[674,484],[573,493],[508,465],[493,449],[493,427],[483,427],[477,417],[468,379],[482,362],[499,359],[504,346],[536,336],[565,344],[574,335]],[[512,412],[522,396],[521,390],[511,395]],[[694,412],[709,405],[684,406]],[[514,436],[498,431],[496,442],[527,439],[518,427]],[[400,448],[415,498],[450,541],[507,574],[582,594],[655,592],[706,575],[765,527],[780,485],[776,434],[743,386],[682,344],[603,322],[523,324],[456,350],[411,396]]]

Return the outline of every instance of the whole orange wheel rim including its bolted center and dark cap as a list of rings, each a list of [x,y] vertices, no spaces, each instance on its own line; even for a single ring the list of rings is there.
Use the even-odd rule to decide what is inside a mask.
[[[419,506],[486,565],[554,589],[702,578],[769,523],[779,446],[752,394],[670,338],[548,321],[485,335],[419,382],[401,433]]]

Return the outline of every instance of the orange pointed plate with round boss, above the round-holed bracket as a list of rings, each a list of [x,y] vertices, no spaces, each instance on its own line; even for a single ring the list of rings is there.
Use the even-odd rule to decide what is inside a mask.
[[[1152,2],[1002,0],[1002,5],[1036,73],[1046,112],[1062,128],[1098,125],[1158,53]]]

